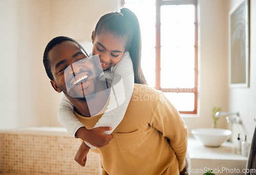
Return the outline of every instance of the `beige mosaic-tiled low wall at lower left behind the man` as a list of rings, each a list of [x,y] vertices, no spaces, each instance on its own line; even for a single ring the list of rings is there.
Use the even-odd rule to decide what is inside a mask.
[[[101,174],[95,153],[85,167],[75,162],[80,143],[71,136],[0,132],[0,174]]]

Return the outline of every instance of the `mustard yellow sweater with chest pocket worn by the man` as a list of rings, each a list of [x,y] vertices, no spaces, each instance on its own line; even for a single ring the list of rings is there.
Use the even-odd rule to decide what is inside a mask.
[[[75,114],[87,129],[101,117]],[[100,154],[108,174],[179,174],[185,166],[187,128],[161,91],[135,84],[129,107],[113,135],[108,145],[90,149]]]

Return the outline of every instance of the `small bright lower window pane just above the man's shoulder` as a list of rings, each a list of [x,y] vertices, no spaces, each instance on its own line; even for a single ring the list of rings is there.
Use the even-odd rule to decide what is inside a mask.
[[[194,93],[163,92],[178,111],[194,111]]]

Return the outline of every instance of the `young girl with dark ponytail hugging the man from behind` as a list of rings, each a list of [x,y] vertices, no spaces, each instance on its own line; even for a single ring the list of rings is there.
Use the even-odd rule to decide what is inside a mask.
[[[132,11],[123,8],[120,13],[103,15],[92,33],[92,42],[92,55],[99,55],[104,70],[104,77],[100,80],[111,79],[112,84],[117,84],[121,76],[125,93],[124,102],[116,108],[115,99],[110,95],[110,103],[105,113],[92,130],[87,130],[75,117],[74,106],[62,94],[58,119],[72,135],[82,139],[91,148],[96,148],[105,145],[102,130],[97,127],[110,127],[109,131],[104,130],[104,134],[111,134],[123,119],[133,93],[134,83],[146,84],[146,81],[140,65],[140,27]],[[120,93],[122,91],[116,88],[115,94]]]

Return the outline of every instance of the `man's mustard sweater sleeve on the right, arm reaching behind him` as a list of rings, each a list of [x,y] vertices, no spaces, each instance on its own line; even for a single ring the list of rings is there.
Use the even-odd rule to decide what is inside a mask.
[[[179,171],[182,171],[187,150],[187,127],[177,109],[162,92],[159,93],[158,104],[150,124],[169,140],[170,147],[179,161]]]

